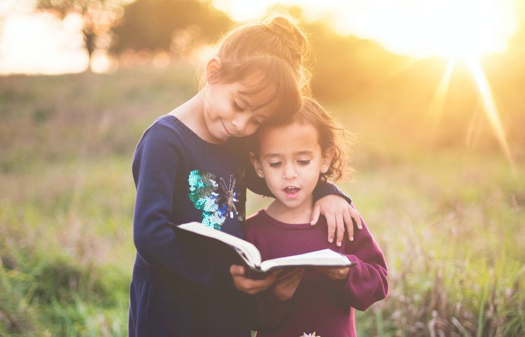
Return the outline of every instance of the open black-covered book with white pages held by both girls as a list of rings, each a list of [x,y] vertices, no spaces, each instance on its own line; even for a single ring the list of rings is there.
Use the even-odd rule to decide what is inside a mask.
[[[243,260],[245,267],[247,267],[247,275],[250,278],[265,278],[271,270],[278,268],[349,267],[355,264],[350,262],[346,256],[330,249],[261,261],[261,255],[256,246],[234,235],[212,229],[198,222],[173,225],[172,227],[174,231],[202,235],[229,245]]]

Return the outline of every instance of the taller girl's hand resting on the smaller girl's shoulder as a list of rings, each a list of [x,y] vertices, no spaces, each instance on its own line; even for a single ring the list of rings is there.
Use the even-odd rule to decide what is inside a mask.
[[[316,224],[321,214],[327,219],[328,242],[333,242],[334,233],[337,232],[338,247],[341,247],[341,243],[343,242],[345,224],[348,240],[350,241],[354,240],[354,225],[352,219],[357,224],[358,229],[363,228],[359,213],[340,195],[325,195],[316,201],[316,203],[313,204],[310,224]]]

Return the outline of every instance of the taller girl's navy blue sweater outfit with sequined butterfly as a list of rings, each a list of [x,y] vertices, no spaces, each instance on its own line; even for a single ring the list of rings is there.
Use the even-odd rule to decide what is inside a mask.
[[[144,132],[132,166],[130,336],[250,336],[254,307],[233,286],[225,258],[232,252],[192,245],[170,227],[198,221],[244,237],[246,186],[269,194],[247,160],[247,140],[208,143],[171,115]],[[333,184],[317,190],[317,198],[342,195]]]

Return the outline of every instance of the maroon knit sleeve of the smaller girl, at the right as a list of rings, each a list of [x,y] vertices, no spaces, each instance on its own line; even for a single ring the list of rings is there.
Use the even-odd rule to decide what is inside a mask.
[[[354,241],[345,241],[345,255],[356,265],[350,267],[345,282],[333,288],[334,297],[343,306],[364,311],[388,293],[388,271],[381,249],[363,223],[363,229],[354,232]]]

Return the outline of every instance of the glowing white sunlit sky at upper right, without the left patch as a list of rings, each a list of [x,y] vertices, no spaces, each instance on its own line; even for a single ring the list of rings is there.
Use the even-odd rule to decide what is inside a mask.
[[[265,2],[214,0],[236,20],[260,17]],[[479,55],[505,50],[516,32],[514,0],[285,0],[300,5],[309,20],[324,19],[341,35],[380,42],[413,57]]]

